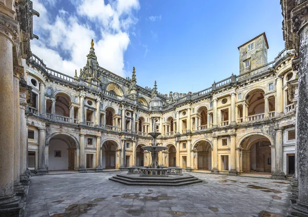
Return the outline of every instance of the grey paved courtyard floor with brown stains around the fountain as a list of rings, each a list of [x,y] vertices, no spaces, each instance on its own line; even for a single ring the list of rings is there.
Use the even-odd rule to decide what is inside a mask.
[[[285,216],[290,183],[190,173],[202,183],[127,186],[120,171],[31,177],[26,216]]]

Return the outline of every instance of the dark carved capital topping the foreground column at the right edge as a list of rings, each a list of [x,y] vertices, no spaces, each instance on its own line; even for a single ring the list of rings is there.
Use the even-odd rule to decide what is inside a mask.
[[[293,33],[298,33],[308,24],[308,2],[300,4],[291,12]]]

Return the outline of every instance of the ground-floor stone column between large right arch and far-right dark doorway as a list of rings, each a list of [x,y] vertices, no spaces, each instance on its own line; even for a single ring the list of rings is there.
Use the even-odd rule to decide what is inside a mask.
[[[282,130],[283,128],[275,129],[275,172],[272,174],[274,179],[285,179],[285,174],[283,172],[283,147],[282,147]]]

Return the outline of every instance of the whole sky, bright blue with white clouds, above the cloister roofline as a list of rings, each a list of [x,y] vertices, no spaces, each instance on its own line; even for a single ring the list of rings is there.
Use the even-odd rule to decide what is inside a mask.
[[[34,0],[32,52],[49,68],[73,75],[90,39],[100,66],[161,93],[208,88],[239,74],[238,46],[266,33],[268,61],[284,48],[278,1]],[[47,12],[48,11],[48,12]]]

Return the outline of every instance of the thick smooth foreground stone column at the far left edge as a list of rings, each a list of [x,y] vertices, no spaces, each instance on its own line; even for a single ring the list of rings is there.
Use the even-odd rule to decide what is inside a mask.
[[[0,18],[1,19],[1,18]],[[19,214],[19,197],[13,191],[14,89],[13,41],[0,29],[0,214]]]

